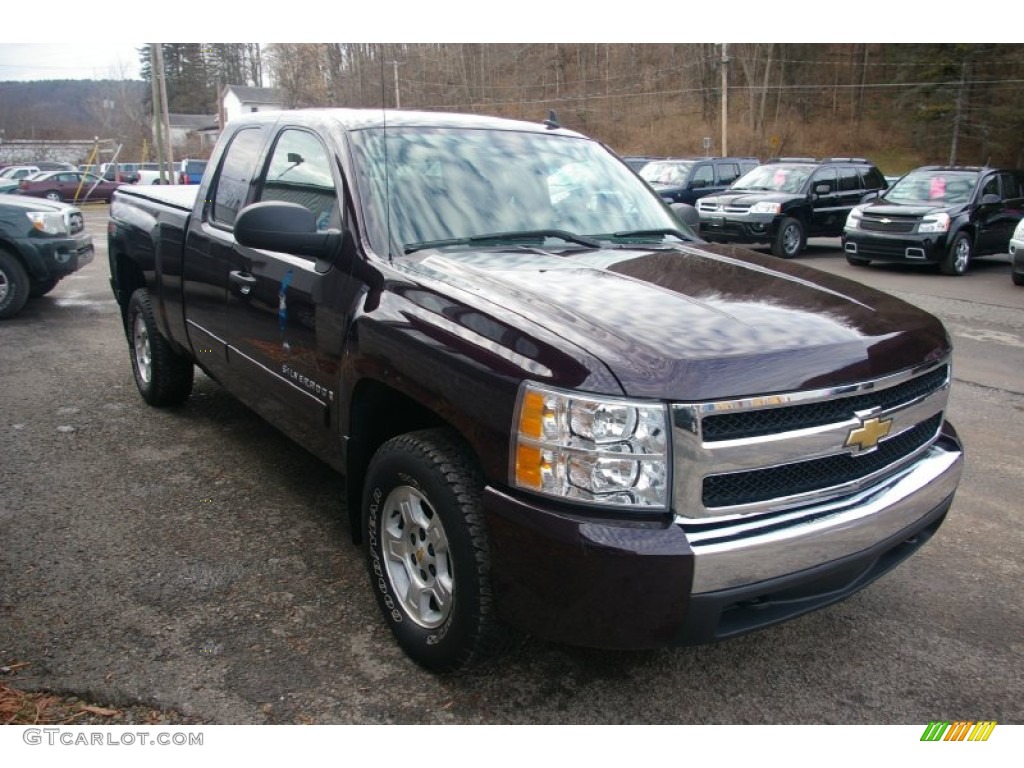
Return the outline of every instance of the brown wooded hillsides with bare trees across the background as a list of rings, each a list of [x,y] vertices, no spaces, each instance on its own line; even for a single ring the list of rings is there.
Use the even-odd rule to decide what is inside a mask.
[[[723,46],[528,43],[164,44],[169,109],[214,114],[224,85],[290,105],[475,112],[566,127],[623,154],[722,152]],[[1024,49],[1005,44],[734,43],[728,153],[853,155],[886,173],[925,163],[1024,166]],[[148,49],[139,51],[148,60]],[[148,69],[144,76],[148,77]],[[9,138],[148,133],[148,83],[0,83]],[[134,157],[133,155],[131,155]]]

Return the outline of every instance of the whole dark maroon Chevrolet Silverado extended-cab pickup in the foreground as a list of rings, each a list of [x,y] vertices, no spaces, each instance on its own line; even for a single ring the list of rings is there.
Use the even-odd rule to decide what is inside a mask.
[[[961,477],[935,317],[702,243],[554,120],[247,115],[198,186],[121,187],[109,245],[141,396],[182,404],[198,366],[344,473],[384,621],[433,671],[828,605]]]

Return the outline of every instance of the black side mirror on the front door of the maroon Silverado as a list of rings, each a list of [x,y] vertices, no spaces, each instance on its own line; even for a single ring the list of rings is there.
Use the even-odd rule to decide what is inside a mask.
[[[308,208],[278,201],[243,208],[234,219],[234,239],[246,248],[290,253],[317,261],[329,261],[341,245],[341,232],[317,230],[316,217]]]

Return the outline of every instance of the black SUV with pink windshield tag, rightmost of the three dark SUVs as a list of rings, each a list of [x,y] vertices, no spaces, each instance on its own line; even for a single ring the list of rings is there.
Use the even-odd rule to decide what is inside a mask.
[[[938,264],[943,274],[959,275],[978,256],[1007,253],[1022,217],[1024,172],[925,166],[851,211],[843,250],[856,266]]]

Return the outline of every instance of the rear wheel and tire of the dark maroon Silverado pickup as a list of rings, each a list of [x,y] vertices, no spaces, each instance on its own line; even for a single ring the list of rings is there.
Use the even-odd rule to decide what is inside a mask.
[[[191,394],[191,358],[175,352],[161,336],[150,294],[140,288],[128,300],[128,351],[142,399],[151,406],[178,406]]]

